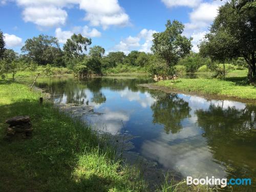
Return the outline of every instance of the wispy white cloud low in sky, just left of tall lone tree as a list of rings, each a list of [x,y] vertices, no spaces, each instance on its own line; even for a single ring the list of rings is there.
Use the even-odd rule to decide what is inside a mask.
[[[150,48],[152,46],[153,33],[157,33],[157,31],[142,29],[137,36],[129,36],[121,40],[119,44],[114,46],[112,51],[123,51],[125,54],[128,54],[134,49],[146,53],[151,52]],[[141,41],[144,42],[140,44]]]

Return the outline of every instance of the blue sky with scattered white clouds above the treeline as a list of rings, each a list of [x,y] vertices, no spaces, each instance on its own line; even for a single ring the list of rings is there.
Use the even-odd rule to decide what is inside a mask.
[[[218,14],[220,0],[0,0],[0,30],[6,47],[20,53],[26,39],[47,34],[62,47],[73,33],[112,51],[151,52],[152,34],[167,19],[184,24],[193,51]]]

